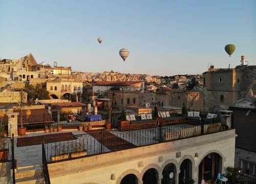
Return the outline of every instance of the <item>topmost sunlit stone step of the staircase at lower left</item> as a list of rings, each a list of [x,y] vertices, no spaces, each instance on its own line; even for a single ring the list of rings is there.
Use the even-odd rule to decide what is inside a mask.
[[[27,178],[33,176],[42,176],[42,168],[40,166],[31,168],[18,168],[15,178]]]

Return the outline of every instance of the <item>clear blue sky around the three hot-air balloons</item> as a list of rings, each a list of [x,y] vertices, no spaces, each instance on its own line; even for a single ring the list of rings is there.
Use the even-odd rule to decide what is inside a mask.
[[[32,53],[73,71],[201,74],[207,63],[234,67],[243,54],[256,65],[256,1],[0,0],[0,41],[0,58]],[[228,43],[237,46],[231,58]]]

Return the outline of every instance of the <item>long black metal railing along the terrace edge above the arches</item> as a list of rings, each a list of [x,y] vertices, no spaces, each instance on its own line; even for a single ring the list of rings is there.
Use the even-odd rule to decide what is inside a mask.
[[[71,141],[45,144],[46,159],[48,163],[60,162],[230,130],[231,126],[221,123],[225,118],[227,117],[208,120],[184,119],[183,122],[168,125],[159,123],[156,127],[143,127],[131,131],[87,131],[74,135]]]

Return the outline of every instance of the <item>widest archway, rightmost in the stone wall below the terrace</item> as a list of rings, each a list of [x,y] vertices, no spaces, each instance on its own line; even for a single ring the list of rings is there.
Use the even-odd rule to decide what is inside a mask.
[[[202,179],[208,184],[215,182],[218,173],[222,173],[222,157],[218,153],[210,153],[206,155],[199,165],[198,179],[199,183]]]

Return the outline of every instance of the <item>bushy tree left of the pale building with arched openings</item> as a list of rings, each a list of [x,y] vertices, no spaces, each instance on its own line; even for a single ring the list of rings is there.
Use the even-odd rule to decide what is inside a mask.
[[[25,84],[25,91],[28,93],[28,99],[36,99],[39,100],[48,100],[49,97],[49,91],[47,91],[46,87],[42,86],[42,84]]]

